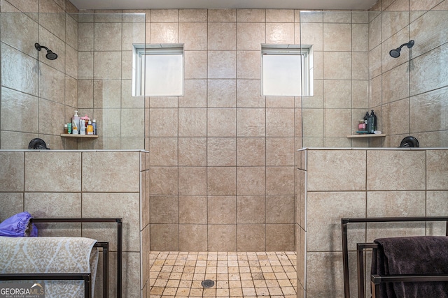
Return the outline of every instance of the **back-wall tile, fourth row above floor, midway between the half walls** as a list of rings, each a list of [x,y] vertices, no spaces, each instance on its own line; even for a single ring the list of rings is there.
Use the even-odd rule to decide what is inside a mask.
[[[237,139],[235,137],[207,138],[207,165],[237,165]]]

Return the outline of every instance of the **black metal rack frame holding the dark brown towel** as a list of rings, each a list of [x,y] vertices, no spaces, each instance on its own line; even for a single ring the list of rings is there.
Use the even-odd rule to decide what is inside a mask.
[[[417,216],[417,217],[370,217],[370,218],[342,218],[342,264],[344,267],[344,298],[350,298],[350,282],[349,282],[349,248],[347,240],[347,224],[348,223],[391,223],[391,222],[428,222],[428,221],[445,221],[446,232],[448,236],[448,217],[447,216]],[[364,298],[364,255],[365,249],[376,249],[377,244],[374,243],[358,243],[356,244],[357,259],[357,276],[358,276],[358,298]],[[372,284],[372,298],[379,295],[379,285],[381,283],[395,282],[425,282],[425,281],[448,281],[448,275],[443,274],[423,274],[423,275],[400,275],[400,276],[379,276],[373,274],[370,278]]]

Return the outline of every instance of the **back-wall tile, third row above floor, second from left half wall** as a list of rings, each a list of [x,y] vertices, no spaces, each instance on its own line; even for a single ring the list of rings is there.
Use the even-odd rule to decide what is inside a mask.
[[[207,195],[207,167],[179,167],[179,195]]]

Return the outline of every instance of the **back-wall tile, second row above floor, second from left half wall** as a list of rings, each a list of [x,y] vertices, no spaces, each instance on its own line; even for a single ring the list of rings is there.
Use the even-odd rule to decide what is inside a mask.
[[[179,223],[207,224],[207,197],[179,195]]]

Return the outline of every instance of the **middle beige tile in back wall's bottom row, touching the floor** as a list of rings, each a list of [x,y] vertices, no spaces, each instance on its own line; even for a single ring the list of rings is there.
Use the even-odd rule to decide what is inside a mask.
[[[237,251],[237,225],[208,227],[208,251]]]

